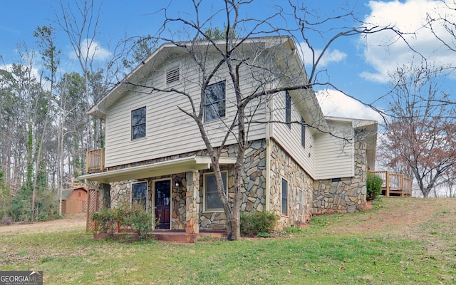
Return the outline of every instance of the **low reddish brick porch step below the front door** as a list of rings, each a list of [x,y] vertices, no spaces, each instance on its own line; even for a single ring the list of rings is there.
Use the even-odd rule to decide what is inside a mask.
[[[184,231],[170,231],[166,229],[155,229],[152,232],[153,239],[163,242],[178,242],[178,243],[195,243],[197,239],[214,238],[220,239],[226,237],[225,231],[204,231],[199,234],[187,234]]]

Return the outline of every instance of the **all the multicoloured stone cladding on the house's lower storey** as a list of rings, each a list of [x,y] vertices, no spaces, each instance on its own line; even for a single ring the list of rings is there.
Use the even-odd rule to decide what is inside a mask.
[[[197,155],[204,155],[204,151]],[[222,151],[222,156],[236,155],[234,146]],[[312,214],[336,212],[356,212],[366,206],[366,141],[357,138],[355,143],[355,176],[335,180],[315,181],[306,171],[276,142],[271,142],[271,193],[269,207],[281,218],[278,229],[299,227],[311,219]],[[225,166],[228,176],[228,199],[234,198],[234,166]],[[199,199],[196,199],[199,211],[199,229],[226,229],[224,212],[204,212],[203,208],[203,175],[199,172]],[[177,173],[166,177],[147,179],[147,203],[152,211],[152,183],[154,180],[171,179],[171,224],[172,229],[186,228],[187,219],[187,175]],[[281,211],[281,183],[288,182],[288,215]],[[133,180],[110,183],[110,207],[130,202],[130,185]],[[175,183],[178,182],[178,186]],[[244,187],[241,189],[242,212],[263,212],[266,209],[266,140],[251,142],[244,158]]]

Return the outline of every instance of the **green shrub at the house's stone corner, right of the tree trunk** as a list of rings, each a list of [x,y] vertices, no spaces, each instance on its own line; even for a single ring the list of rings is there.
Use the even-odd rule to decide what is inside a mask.
[[[258,237],[269,237],[279,217],[274,212],[252,212],[241,214],[241,232]]]

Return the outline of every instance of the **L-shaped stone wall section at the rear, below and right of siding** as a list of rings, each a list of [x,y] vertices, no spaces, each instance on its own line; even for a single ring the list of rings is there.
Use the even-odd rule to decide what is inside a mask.
[[[358,212],[366,209],[366,139],[355,142],[355,176],[318,180],[314,187],[314,214]]]

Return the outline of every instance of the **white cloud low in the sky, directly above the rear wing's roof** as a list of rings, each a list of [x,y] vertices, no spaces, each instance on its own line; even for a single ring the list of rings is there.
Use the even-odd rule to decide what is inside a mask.
[[[382,116],[378,112],[338,90],[319,90],[316,92],[316,98],[323,110],[323,115],[362,120],[377,120],[380,123],[383,121]]]

